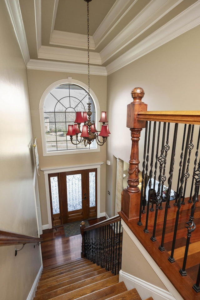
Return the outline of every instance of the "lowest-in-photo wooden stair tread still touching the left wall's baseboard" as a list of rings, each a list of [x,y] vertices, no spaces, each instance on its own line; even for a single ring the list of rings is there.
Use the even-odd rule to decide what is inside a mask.
[[[47,293],[42,294],[40,296],[36,296],[36,297],[34,297],[34,300],[47,300],[47,299],[51,299],[53,297],[60,296],[63,293],[71,292],[71,291],[73,291],[75,289],[78,289],[78,288],[90,285],[90,284],[92,284],[94,282],[98,282],[99,283],[99,288],[101,288],[101,281],[104,280],[104,279],[106,279],[106,278],[112,277],[112,276],[114,276],[114,275],[111,273],[111,271],[110,272],[106,272],[106,273],[103,273],[103,274],[100,274],[100,275],[97,275],[97,276],[90,277],[88,279],[82,280],[80,282],[76,282],[76,283],[70,284],[67,287],[61,287],[61,288],[59,288],[57,290],[53,290],[51,292],[47,292]]]

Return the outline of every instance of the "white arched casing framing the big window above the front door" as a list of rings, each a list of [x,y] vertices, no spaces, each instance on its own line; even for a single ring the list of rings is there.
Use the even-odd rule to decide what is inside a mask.
[[[43,152],[43,156],[52,156],[52,155],[65,155],[65,154],[75,154],[75,153],[88,153],[88,152],[97,152],[100,151],[100,146],[96,143],[96,148],[91,148],[91,149],[72,149],[72,150],[57,150],[57,151],[47,151],[47,143],[46,143],[46,134],[45,134],[45,122],[44,122],[44,103],[45,100],[48,96],[48,94],[53,90],[53,88],[56,88],[57,86],[61,85],[61,84],[77,84],[80,87],[82,87],[83,89],[85,89],[88,92],[88,86],[78,80],[74,80],[71,77],[68,77],[68,79],[61,79],[58,80],[54,83],[52,83],[50,86],[48,86],[48,88],[46,88],[46,90],[44,91],[44,93],[42,94],[42,97],[40,99],[40,104],[39,104],[39,113],[40,113],[40,127],[41,127],[41,136],[42,136],[42,152]],[[93,92],[93,90],[90,89],[90,95],[93,98],[93,102],[94,102],[94,106],[95,106],[95,120],[96,120],[96,128],[97,130],[99,129],[99,122],[97,120],[100,119],[100,108],[99,108],[99,102],[98,99],[95,95],[95,93]]]

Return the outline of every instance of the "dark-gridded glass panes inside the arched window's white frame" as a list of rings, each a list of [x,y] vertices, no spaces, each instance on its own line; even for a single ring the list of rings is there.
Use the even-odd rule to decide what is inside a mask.
[[[91,120],[95,122],[95,105],[91,102]],[[47,152],[81,150],[84,144],[73,145],[66,136],[68,125],[73,124],[77,111],[88,110],[88,92],[77,84],[65,83],[53,88],[44,102],[44,124]],[[81,129],[82,129],[81,125]],[[76,143],[76,136],[73,136]],[[90,149],[97,148],[94,141]]]

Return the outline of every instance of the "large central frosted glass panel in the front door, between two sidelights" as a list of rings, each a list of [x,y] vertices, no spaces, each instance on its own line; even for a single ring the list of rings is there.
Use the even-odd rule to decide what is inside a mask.
[[[67,175],[68,212],[82,209],[82,180],[81,174]]]

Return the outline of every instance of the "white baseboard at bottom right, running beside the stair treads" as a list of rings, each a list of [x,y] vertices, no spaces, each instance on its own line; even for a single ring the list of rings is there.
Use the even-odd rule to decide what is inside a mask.
[[[156,287],[146,281],[130,275],[122,270],[119,271],[119,282],[123,281],[128,290],[136,288],[142,300],[153,297],[153,300],[182,300],[183,298],[175,298],[170,292]]]

